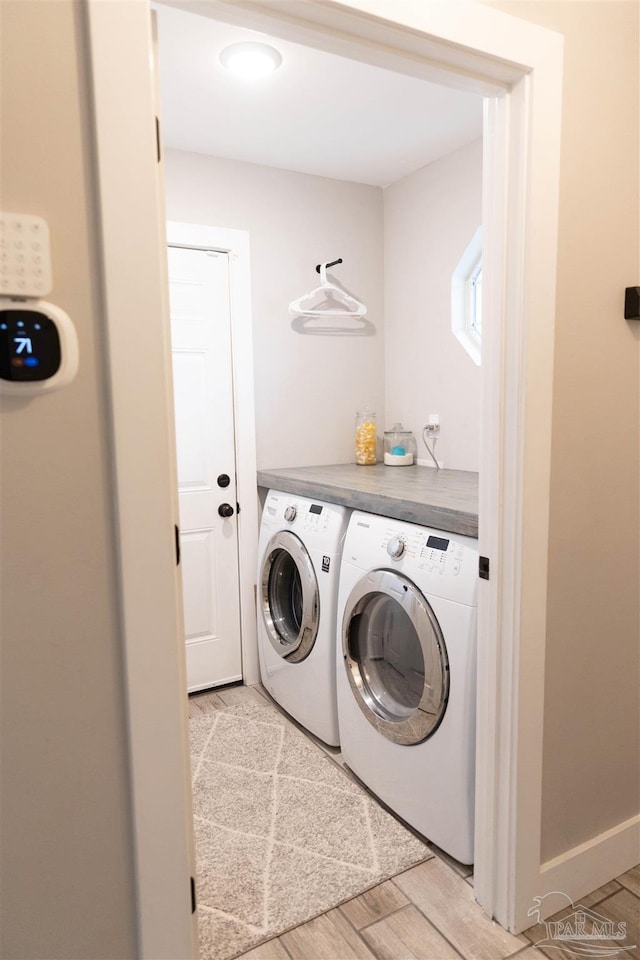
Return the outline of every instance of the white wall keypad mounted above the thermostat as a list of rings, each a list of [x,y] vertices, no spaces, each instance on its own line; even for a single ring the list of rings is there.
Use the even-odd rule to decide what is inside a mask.
[[[0,213],[0,294],[43,297],[51,286],[47,222],[26,213]]]

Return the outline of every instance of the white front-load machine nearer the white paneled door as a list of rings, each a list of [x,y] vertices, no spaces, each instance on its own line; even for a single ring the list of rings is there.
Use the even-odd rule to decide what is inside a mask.
[[[270,490],[258,544],[262,683],[307,730],[338,746],[336,609],[347,507]]]

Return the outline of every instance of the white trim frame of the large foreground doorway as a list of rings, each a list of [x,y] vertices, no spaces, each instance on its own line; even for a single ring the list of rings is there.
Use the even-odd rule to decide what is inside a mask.
[[[172,806],[171,791],[164,789],[179,778],[186,755],[179,655],[167,627],[176,622],[179,587],[170,564],[157,564],[151,611],[149,591],[140,593],[136,570],[154,549],[169,553],[168,528],[177,502],[171,426],[163,413],[171,405],[170,378],[159,362],[137,377],[126,369],[131,340],[125,333],[140,346],[150,330],[158,342],[167,337],[149,7],[146,0],[85,2],[123,571],[140,956],[187,956],[192,954],[186,896],[166,884],[169,865],[176,866],[181,851],[186,863],[192,842],[188,805]],[[479,596],[475,894],[490,916],[517,932],[529,922],[532,896],[553,889],[542,883],[540,812],[562,38],[477,3],[187,0],[176,5],[489,98],[483,212],[489,333],[483,346],[479,545],[491,560],[491,580],[481,581]],[[121,144],[127,148],[120,149]],[[122,255],[125,233],[129,259]],[[132,333],[124,320],[131,319],[133,303],[144,336]],[[155,445],[129,416],[149,386],[157,401],[149,413]],[[150,447],[157,455],[161,494],[151,504],[145,478],[136,470]],[[144,523],[136,520],[140,509]],[[165,623],[161,644],[148,629],[159,609]],[[141,651],[152,651],[153,660]],[[151,715],[143,716],[143,705],[150,707],[142,690],[150,686],[149,662],[154,662],[156,695]],[[167,692],[172,669],[174,686]],[[160,693],[156,675],[165,679]],[[153,726],[160,715],[171,750]],[[187,798],[188,788],[184,793]],[[178,864],[179,873],[184,863]],[[569,894],[579,886],[571,882],[563,887]],[[193,940],[190,949],[195,950]]]

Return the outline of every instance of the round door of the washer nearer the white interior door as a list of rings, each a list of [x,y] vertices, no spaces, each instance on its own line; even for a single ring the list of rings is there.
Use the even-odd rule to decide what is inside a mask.
[[[271,645],[291,663],[304,660],[318,635],[320,597],[311,558],[295,534],[280,530],[260,571],[262,617]]]

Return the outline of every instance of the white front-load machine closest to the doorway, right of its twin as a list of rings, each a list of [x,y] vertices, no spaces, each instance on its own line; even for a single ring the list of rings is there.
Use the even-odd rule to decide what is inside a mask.
[[[354,512],[338,595],[347,765],[398,816],[473,862],[477,541]]]

